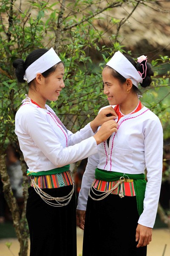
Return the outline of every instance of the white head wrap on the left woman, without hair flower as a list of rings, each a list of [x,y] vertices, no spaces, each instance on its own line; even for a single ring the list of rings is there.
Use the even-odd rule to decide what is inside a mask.
[[[57,53],[51,47],[48,52],[45,52],[45,54],[43,54],[40,58],[38,58],[30,66],[28,66],[23,79],[29,83],[34,78],[36,78],[38,73],[42,74],[60,61],[61,60],[58,57]]]

